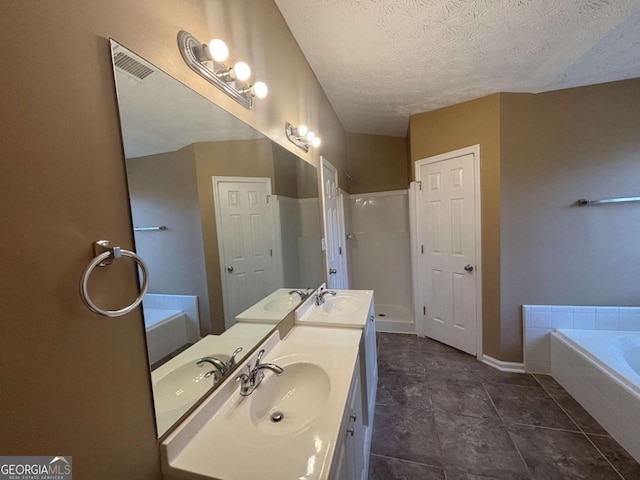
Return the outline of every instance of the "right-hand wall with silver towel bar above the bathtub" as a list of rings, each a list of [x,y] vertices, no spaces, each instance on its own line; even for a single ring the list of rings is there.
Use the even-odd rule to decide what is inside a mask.
[[[502,346],[521,360],[522,304],[638,305],[640,79],[505,94],[501,121]]]

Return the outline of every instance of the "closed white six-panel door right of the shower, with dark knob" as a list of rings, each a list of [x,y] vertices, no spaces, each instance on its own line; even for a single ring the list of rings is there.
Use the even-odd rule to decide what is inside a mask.
[[[422,330],[472,355],[480,333],[477,155],[464,149],[416,163]]]

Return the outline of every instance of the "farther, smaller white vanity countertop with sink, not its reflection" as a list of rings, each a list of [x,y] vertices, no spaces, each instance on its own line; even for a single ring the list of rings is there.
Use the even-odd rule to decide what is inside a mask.
[[[373,290],[334,291],[335,296],[324,296],[323,305],[314,304],[314,295],[305,300],[296,310],[296,324],[363,328],[367,322]]]

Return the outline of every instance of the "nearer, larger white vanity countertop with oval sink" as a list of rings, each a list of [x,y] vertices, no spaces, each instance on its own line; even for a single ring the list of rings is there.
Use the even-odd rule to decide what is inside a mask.
[[[313,326],[296,326],[280,342],[272,335],[262,362],[280,365],[284,373],[278,377],[267,371],[248,397],[240,396],[233,378],[225,380],[162,442],[165,475],[328,478],[361,335],[359,329]],[[284,414],[279,423],[270,421],[274,408]]]

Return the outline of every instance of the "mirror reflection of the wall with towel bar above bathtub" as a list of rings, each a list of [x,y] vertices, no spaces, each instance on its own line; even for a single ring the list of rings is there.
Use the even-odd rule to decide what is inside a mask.
[[[165,225],[137,232],[136,252],[149,267],[149,293],[196,295],[200,331],[212,330],[193,145],[176,152],[127,159],[133,225]]]

